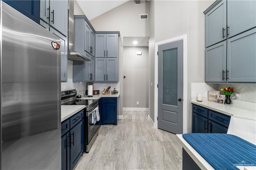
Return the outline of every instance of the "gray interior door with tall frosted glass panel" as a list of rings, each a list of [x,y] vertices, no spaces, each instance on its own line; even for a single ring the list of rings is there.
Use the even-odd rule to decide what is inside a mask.
[[[183,40],[158,46],[158,128],[182,134]]]

